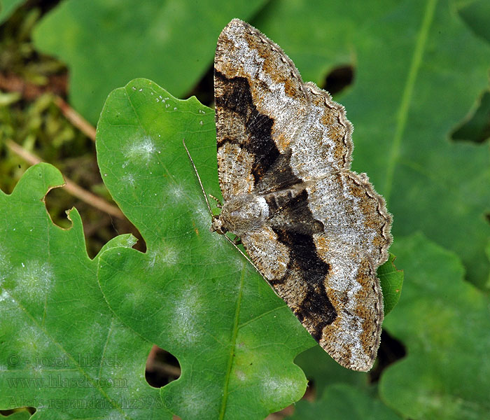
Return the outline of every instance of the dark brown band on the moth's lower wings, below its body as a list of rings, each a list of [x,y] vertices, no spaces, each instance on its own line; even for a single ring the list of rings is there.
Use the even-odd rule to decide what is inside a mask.
[[[302,323],[310,326],[311,336],[319,342],[323,328],[337,318],[337,311],[325,290],[325,279],[330,265],[318,256],[311,235],[279,228],[273,230],[279,241],[288,246],[290,250],[288,272],[293,270],[299,272],[307,289],[302,302],[291,309]]]

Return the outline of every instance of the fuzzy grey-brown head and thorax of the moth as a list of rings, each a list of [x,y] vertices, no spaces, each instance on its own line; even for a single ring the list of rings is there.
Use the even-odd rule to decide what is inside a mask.
[[[236,195],[223,204],[219,216],[213,218],[211,230],[232,232],[241,237],[246,232],[259,229],[269,216],[269,206],[264,197],[252,194]]]

